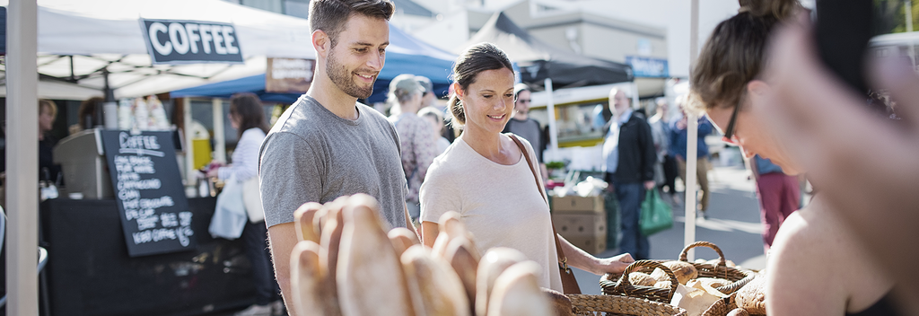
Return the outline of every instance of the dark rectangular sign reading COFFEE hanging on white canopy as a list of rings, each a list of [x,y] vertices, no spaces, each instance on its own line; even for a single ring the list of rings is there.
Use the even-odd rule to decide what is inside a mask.
[[[243,63],[243,51],[232,24],[141,19],[141,27],[153,64]]]

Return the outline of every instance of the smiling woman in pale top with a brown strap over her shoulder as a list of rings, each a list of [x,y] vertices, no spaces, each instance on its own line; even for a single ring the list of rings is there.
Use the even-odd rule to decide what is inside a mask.
[[[465,128],[434,160],[421,186],[422,242],[432,246],[437,220],[457,211],[481,252],[499,246],[519,250],[542,266],[540,287],[562,291],[549,206],[523,156],[535,162],[533,149],[518,138],[527,149],[521,152],[501,134],[514,111],[511,69],[504,51],[490,43],[472,46],[455,63],[448,107]],[[630,254],[600,259],[559,240],[569,265],[597,275],[621,273],[633,262]]]

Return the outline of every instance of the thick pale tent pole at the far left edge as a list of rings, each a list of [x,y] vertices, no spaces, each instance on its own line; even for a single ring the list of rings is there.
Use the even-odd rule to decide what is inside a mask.
[[[39,314],[38,6],[10,1],[6,74],[7,315]],[[16,119],[12,119],[16,118]]]

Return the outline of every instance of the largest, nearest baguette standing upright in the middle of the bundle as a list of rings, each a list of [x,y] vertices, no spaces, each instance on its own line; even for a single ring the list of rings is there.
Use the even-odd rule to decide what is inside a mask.
[[[357,194],[342,210],[335,281],[344,316],[414,316],[402,262],[383,231],[379,209],[373,197]]]

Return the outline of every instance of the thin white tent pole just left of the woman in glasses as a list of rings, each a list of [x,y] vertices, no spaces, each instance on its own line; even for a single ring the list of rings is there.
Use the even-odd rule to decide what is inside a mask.
[[[689,64],[691,67],[698,57],[698,0],[692,0],[689,17]],[[695,113],[686,113],[686,229],[683,234],[683,245],[696,242],[696,166],[698,165],[698,118]],[[696,260],[696,249],[689,249],[686,258]]]

